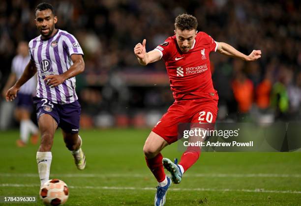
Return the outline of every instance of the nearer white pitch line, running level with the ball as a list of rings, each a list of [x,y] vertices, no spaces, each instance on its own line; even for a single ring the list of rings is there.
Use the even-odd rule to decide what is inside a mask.
[[[0,187],[39,187],[37,184],[0,184]],[[107,190],[155,190],[154,187],[107,187],[107,186],[69,186],[74,189],[107,189]],[[292,190],[265,190],[257,189],[215,189],[215,188],[170,188],[173,191],[211,191],[211,192],[255,192],[255,193],[290,193],[301,194],[301,191]]]

